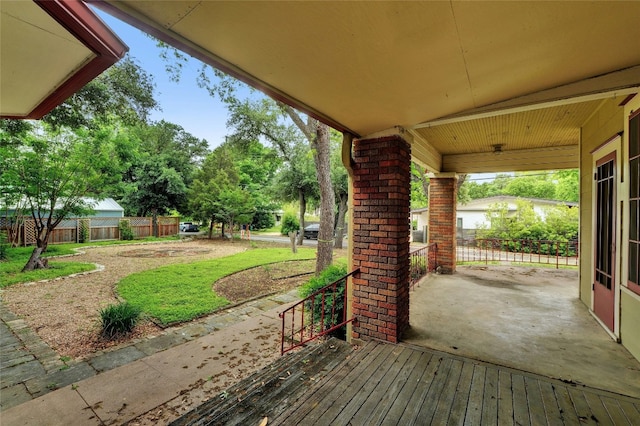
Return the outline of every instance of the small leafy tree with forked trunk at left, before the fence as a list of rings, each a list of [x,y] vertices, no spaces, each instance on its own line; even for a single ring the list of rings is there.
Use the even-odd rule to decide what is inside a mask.
[[[36,130],[5,151],[11,161],[2,177],[3,187],[19,183],[20,197],[35,224],[36,247],[24,270],[45,268],[40,255],[56,226],[71,215],[91,212],[87,198],[100,199],[118,182],[118,145],[127,139],[126,131],[106,126],[72,132],[41,125]]]

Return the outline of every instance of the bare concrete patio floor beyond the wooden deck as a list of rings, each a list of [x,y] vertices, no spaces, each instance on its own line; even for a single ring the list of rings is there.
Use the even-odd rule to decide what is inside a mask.
[[[575,270],[458,267],[410,299],[407,343],[640,397],[640,363],[578,299]]]

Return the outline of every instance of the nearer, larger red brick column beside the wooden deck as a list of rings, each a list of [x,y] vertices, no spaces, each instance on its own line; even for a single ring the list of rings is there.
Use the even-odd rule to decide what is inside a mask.
[[[394,135],[356,141],[353,156],[353,338],[397,343],[409,325],[411,148]]]

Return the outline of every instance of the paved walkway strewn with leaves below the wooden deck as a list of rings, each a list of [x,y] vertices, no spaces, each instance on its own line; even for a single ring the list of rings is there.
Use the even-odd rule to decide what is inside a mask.
[[[122,424],[205,381],[239,379],[279,356],[278,313],[296,300],[294,290],[247,302],[68,366],[0,305],[0,423]]]

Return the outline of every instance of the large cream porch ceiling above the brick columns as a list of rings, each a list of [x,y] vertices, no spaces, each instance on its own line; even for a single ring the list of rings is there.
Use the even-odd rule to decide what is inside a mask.
[[[580,127],[640,86],[640,2],[92,4],[434,172],[577,168]]]

